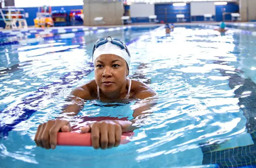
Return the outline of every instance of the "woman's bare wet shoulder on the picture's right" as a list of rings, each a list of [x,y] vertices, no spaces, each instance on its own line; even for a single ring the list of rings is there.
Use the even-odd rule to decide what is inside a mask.
[[[135,92],[136,99],[147,99],[148,97],[153,97],[156,95],[156,92],[153,89],[143,82],[139,82],[137,80],[132,80],[131,89]]]

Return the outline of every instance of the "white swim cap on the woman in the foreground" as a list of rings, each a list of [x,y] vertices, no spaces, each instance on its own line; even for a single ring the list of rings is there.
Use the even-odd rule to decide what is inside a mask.
[[[128,55],[128,53],[126,52],[126,49],[121,49],[119,46],[112,44],[111,42],[102,44],[95,49],[95,51],[93,53],[94,66],[96,65],[96,59],[102,54],[114,54],[119,57],[122,57],[126,61],[128,67],[130,66],[131,58]]]

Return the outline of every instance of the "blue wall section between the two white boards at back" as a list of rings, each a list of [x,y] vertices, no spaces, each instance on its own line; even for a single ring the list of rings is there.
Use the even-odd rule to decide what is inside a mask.
[[[166,9],[166,18],[165,18]],[[186,6],[173,6],[172,4],[156,4],[155,5],[155,15],[157,19],[161,22],[173,23],[176,22],[176,15],[184,14],[186,22],[190,22],[190,4]]]

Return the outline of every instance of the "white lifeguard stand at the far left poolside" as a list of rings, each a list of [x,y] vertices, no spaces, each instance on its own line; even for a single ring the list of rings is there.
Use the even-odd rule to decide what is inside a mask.
[[[24,9],[3,8],[0,9],[0,14],[0,20],[3,20],[6,24],[5,29],[28,28]],[[16,25],[17,22],[19,24],[19,27],[17,27]]]

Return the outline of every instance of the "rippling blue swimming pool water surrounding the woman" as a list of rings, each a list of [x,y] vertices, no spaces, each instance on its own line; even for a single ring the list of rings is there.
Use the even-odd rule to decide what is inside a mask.
[[[38,124],[57,117],[70,91],[93,79],[92,47],[107,35],[129,45],[130,76],[151,81],[159,96],[154,113],[131,142],[118,148],[37,148]],[[1,46],[0,167],[256,165],[255,42],[251,35],[229,31],[220,36],[186,26],[176,27],[171,36],[163,27],[132,27]],[[130,104],[102,108],[88,102],[79,115],[124,117],[131,115],[129,109]]]

